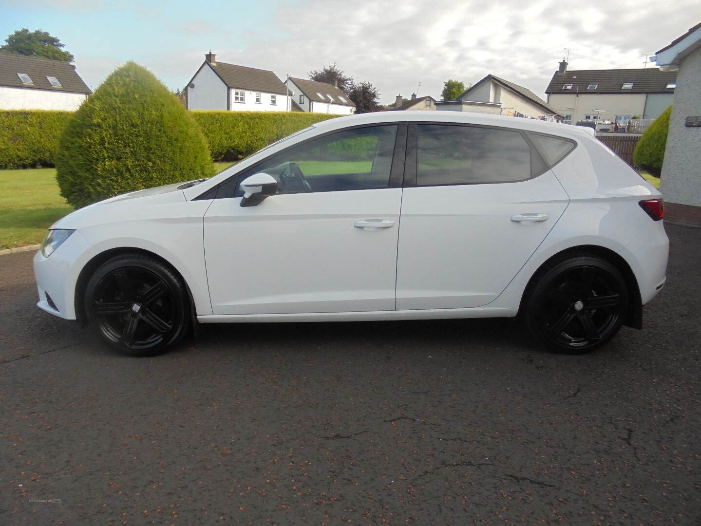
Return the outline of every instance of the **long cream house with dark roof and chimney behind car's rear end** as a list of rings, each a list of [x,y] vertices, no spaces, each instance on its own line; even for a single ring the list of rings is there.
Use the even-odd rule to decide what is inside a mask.
[[[567,70],[562,60],[545,89],[547,103],[564,122],[611,120],[625,126],[634,116],[653,119],[674,99],[676,73],[658,68]]]

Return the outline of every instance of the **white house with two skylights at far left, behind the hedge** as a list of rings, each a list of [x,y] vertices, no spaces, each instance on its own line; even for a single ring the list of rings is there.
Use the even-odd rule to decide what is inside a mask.
[[[0,109],[74,111],[90,93],[70,62],[0,53]]]

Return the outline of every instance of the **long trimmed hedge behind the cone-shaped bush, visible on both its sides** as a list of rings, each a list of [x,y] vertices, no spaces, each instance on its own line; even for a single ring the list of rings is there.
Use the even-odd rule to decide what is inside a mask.
[[[90,97],[88,97],[88,100]],[[0,169],[53,166],[72,111],[0,111]],[[287,135],[338,117],[327,113],[190,111],[214,160],[238,160]]]

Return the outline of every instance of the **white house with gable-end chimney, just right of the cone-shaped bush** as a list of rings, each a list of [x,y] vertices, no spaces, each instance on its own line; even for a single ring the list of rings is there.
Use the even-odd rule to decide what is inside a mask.
[[[217,62],[211,51],[187,84],[187,109],[290,111],[287,88],[273,71]]]

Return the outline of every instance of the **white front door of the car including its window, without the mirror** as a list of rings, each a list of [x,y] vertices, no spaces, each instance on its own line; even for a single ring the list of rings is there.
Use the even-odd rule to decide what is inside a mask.
[[[220,188],[204,226],[214,314],[394,309],[397,130],[405,137],[381,125],[309,139]],[[278,181],[278,194],[240,207],[240,182],[257,172]]]

